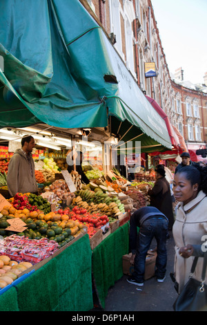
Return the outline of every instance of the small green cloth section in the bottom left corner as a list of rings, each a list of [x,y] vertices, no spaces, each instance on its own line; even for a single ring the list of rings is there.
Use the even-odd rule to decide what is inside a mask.
[[[11,287],[0,295],[0,311],[19,311],[16,288]]]

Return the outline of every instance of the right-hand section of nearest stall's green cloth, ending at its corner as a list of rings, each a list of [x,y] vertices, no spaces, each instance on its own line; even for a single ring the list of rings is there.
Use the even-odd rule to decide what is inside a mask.
[[[55,258],[59,266],[57,282],[60,311],[86,311],[93,308],[91,255],[86,234]]]

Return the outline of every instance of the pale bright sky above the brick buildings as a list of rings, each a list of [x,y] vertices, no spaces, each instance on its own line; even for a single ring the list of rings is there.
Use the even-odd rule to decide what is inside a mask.
[[[207,0],[151,0],[170,73],[204,84],[207,72]]]

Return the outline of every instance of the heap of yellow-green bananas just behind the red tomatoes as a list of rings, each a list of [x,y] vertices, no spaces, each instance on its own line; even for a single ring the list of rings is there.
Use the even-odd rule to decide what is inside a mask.
[[[110,197],[101,189],[96,191],[81,189],[75,194],[78,196],[72,199],[72,204],[86,208],[88,212],[99,212],[107,216],[119,216],[125,212],[124,205],[117,196]]]

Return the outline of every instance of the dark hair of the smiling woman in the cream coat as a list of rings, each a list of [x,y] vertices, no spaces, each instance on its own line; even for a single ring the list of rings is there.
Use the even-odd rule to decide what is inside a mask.
[[[198,190],[202,190],[207,194],[207,167],[201,167],[199,164],[195,164],[193,166],[182,167],[177,173],[184,173],[186,179],[190,180],[191,185],[197,183],[199,185]]]

